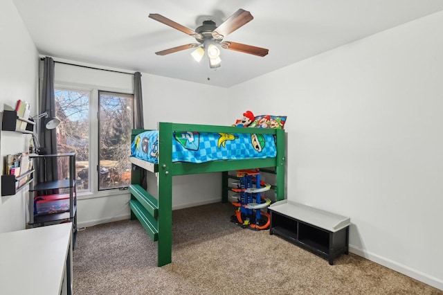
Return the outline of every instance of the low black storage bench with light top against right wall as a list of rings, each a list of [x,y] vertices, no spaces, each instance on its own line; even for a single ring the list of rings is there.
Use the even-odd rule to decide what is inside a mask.
[[[269,206],[271,229],[278,235],[328,260],[342,253],[347,254],[349,244],[350,218],[329,213],[317,208],[288,201],[275,202]]]

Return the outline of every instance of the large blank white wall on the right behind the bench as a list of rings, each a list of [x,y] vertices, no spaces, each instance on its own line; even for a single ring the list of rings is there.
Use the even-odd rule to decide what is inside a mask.
[[[440,12],[230,89],[288,116],[288,199],[351,217],[351,251],[440,289],[442,53]]]

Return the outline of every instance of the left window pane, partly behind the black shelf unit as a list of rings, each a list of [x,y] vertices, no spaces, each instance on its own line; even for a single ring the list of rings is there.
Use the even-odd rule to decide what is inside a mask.
[[[75,152],[78,191],[89,190],[89,98],[86,91],[55,89],[57,152]]]

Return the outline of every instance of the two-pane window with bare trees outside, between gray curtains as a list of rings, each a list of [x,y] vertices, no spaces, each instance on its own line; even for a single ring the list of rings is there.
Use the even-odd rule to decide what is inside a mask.
[[[130,183],[134,96],[55,89],[57,152],[75,152],[78,192],[125,188]],[[97,116],[92,111],[97,109]]]

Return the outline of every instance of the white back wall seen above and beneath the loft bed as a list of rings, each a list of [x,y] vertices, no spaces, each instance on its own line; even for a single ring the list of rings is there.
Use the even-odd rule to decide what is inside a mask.
[[[142,75],[142,84],[147,129],[156,129],[158,122],[230,125],[235,121],[232,107],[223,103],[228,89],[149,74]],[[221,200],[219,173],[177,176],[172,184],[173,209]],[[148,188],[157,197],[155,187],[156,179],[151,177]]]

